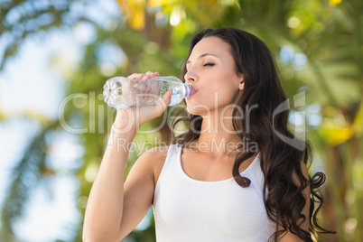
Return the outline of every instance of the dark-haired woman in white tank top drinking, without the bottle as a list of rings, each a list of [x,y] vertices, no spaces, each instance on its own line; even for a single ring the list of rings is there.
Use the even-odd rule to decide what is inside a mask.
[[[161,116],[171,91],[157,106],[117,110],[89,195],[84,240],[120,241],[150,206],[161,242],[312,241],[313,226],[327,232],[311,202],[321,200],[314,190],[324,175],[310,179],[309,145],[292,139],[287,111],[275,112],[286,97],[265,44],[241,30],[207,29],[192,40],[183,74],[195,90],[185,99],[188,132],[145,152],[125,184],[128,149],[117,144],[131,144],[138,125]]]

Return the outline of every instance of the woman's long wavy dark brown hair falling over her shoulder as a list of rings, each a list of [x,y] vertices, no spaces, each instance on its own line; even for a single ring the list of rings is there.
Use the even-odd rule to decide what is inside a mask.
[[[234,162],[232,174],[237,183],[248,187],[250,180],[242,177],[238,168],[254,154],[260,154],[261,169],[264,173],[265,209],[270,219],[278,223],[282,229],[276,230],[269,241],[290,231],[303,241],[313,241],[317,233],[331,233],[318,224],[317,212],[321,209],[323,199],[319,194],[325,175],[317,172],[309,179],[302,173],[301,162],[308,165],[312,161],[311,146],[307,141],[296,139],[288,128],[289,109],[276,113],[275,110],[286,101],[284,89],[278,78],[275,60],[265,43],[255,35],[235,28],[206,29],[198,33],[191,41],[188,57],[194,46],[202,38],[216,36],[230,45],[230,51],[235,61],[237,74],[244,75],[245,89],[237,106],[252,107],[258,105],[258,111],[249,113],[248,122],[243,122],[238,110],[233,111],[233,126],[240,137],[242,144],[254,142],[258,149],[239,150]],[[182,77],[186,73],[185,62],[182,67]],[[280,106],[281,107],[281,106]],[[188,131],[182,135],[174,136],[173,143],[187,145],[200,136],[202,118],[200,116],[181,116],[173,123],[175,130],[180,122],[187,121]],[[295,144],[287,144],[286,139],[276,135],[276,131],[284,137],[290,138]],[[243,145],[247,147],[247,145]],[[299,146],[296,148],[296,146]],[[303,148],[302,148],[303,147]],[[243,148],[243,147],[240,147]],[[296,180],[297,178],[297,180]],[[302,209],[306,200],[302,191],[310,186],[310,218],[305,218]],[[317,208],[314,208],[319,204]],[[309,231],[303,230],[300,225],[309,219]]]

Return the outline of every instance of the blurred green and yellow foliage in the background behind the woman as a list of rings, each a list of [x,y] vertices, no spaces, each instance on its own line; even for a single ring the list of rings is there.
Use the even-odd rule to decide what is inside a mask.
[[[90,24],[96,32],[95,38],[82,46],[83,58],[76,67],[64,68],[57,58],[51,63],[65,79],[65,98],[84,95],[86,105],[81,104],[82,98],[73,98],[56,120],[23,114],[37,120],[42,128],[14,167],[1,208],[1,241],[16,241],[14,221],[22,218],[30,191],[42,178],[57,176],[57,171],[47,167],[51,146],[47,137],[69,132],[64,123],[87,128],[86,132],[74,134],[85,152],[81,167],[71,171],[79,179],[77,202],[80,213],[84,213],[92,174],[97,172],[115,115],[115,110],[99,98],[106,79],[147,70],[180,76],[192,35],[206,27],[220,26],[241,28],[260,37],[275,53],[288,95],[306,91],[305,109],[292,110],[304,111],[302,126],[311,139],[316,162],[324,165],[328,176],[321,222],[338,234],[327,236],[326,241],[358,242],[363,237],[363,208],[358,206],[363,204],[362,1],[118,0],[120,15],[103,25],[72,8],[86,2],[0,2],[0,33],[11,40],[0,71],[27,38],[39,38],[51,30],[74,29],[79,23]],[[105,52],[116,55],[118,61],[105,57]],[[147,142],[149,147],[167,144],[172,133],[167,123],[163,124],[164,118],[170,117],[161,116],[144,124],[135,143]],[[0,110],[0,121],[8,119]],[[146,132],[153,129],[157,130]],[[139,150],[131,153],[129,163],[139,155]],[[26,184],[23,178],[29,174],[35,175],[37,182]],[[154,241],[154,219],[148,219],[147,228],[135,229],[125,240]],[[73,241],[81,241],[81,223],[74,228]]]

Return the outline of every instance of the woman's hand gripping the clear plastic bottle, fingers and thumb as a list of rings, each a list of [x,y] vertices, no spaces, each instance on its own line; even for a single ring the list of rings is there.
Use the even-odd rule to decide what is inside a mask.
[[[159,72],[147,71],[145,74],[134,73],[128,76],[128,79],[152,79],[154,77],[160,77]],[[156,106],[144,106],[144,107],[126,107],[117,109],[116,120],[114,126],[118,132],[128,132],[131,129],[136,131],[145,122],[154,119],[157,116],[161,116],[166,107],[169,106],[172,97],[172,90],[165,93],[161,102]]]

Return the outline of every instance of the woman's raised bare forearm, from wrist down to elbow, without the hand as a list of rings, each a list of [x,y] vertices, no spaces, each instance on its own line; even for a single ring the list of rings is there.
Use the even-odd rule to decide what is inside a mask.
[[[84,241],[116,241],[124,203],[124,180],[128,151],[117,151],[117,142],[131,143],[135,130],[127,134],[111,131],[98,175],[89,193],[83,227]]]

